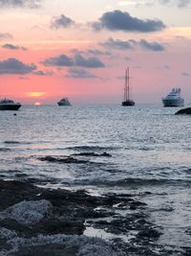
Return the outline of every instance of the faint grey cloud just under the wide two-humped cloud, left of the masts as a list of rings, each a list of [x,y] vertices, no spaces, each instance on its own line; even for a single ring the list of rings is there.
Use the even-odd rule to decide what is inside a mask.
[[[83,68],[70,68],[66,78],[70,79],[97,79],[98,77]]]

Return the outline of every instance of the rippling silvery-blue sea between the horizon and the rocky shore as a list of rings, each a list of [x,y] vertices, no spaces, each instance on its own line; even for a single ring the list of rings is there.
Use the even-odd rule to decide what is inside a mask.
[[[159,244],[188,246],[191,116],[175,115],[178,109],[23,105],[0,111],[0,178],[92,194],[133,193],[162,228]],[[42,161],[46,156],[72,158]]]

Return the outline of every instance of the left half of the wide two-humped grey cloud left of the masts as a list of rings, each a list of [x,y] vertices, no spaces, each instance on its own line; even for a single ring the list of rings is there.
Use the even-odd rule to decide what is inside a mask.
[[[45,66],[74,66],[74,59],[66,55],[60,55],[58,57],[47,58],[42,62]]]

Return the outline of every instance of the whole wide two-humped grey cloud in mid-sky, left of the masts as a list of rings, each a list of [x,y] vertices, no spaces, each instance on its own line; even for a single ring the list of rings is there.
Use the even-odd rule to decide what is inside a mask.
[[[68,57],[66,55],[60,55],[58,57],[47,58],[42,62],[45,66],[80,66],[87,68],[98,68],[104,67],[104,63],[98,58],[84,58],[80,54],[75,54],[74,58]]]

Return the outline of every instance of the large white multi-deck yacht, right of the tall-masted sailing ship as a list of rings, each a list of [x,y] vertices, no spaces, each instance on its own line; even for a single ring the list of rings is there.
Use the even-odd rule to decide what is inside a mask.
[[[182,106],[184,105],[184,100],[181,97],[180,88],[173,88],[172,91],[165,97],[161,99],[164,106]]]

